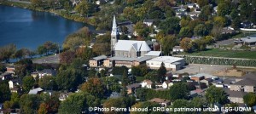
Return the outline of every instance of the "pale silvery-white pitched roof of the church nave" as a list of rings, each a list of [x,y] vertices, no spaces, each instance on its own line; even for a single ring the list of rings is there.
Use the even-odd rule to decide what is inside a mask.
[[[131,47],[135,48],[137,51],[151,51],[145,41],[136,40],[119,40],[118,43],[115,44],[114,50],[130,51]]]

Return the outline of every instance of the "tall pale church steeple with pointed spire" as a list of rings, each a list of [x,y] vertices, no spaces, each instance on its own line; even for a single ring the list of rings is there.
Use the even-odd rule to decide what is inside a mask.
[[[114,45],[115,43],[118,42],[118,39],[119,39],[119,31],[118,31],[116,20],[115,20],[115,15],[113,15],[113,26],[111,31],[111,56],[114,55]]]

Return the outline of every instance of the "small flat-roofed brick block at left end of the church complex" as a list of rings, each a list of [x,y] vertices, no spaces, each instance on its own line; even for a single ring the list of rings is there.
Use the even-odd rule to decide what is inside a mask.
[[[90,59],[89,63],[90,63],[90,67],[98,67],[98,66],[102,66],[103,65],[103,61],[106,60],[108,57],[105,55],[100,55],[97,57],[94,57],[92,59]]]

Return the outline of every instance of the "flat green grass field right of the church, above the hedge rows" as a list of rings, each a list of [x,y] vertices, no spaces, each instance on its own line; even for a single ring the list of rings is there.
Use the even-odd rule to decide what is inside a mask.
[[[256,51],[233,51],[233,50],[220,50],[217,48],[208,49],[207,51],[201,51],[201,52],[192,53],[189,55],[256,59]]]

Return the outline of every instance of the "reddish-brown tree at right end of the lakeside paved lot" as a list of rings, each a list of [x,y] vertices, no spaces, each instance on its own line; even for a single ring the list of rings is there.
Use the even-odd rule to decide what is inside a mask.
[[[70,64],[75,58],[75,52],[68,50],[60,54],[60,61],[62,64]]]

